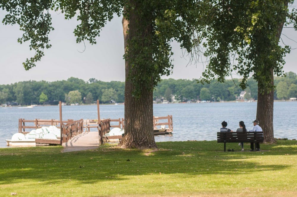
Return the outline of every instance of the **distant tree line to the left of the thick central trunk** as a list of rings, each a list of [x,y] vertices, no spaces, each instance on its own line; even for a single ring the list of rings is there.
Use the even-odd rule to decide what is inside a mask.
[[[67,80],[23,81],[0,85],[1,104],[58,104],[58,101],[91,104],[97,99],[102,103],[124,102],[124,82],[103,82],[94,78],[84,80],[70,77]]]

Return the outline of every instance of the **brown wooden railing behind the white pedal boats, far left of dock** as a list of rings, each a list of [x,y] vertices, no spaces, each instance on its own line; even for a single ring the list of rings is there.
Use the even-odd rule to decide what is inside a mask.
[[[64,120],[62,121],[62,123],[68,123],[72,120]],[[51,119],[51,120],[41,120],[41,119],[35,119],[35,120],[25,120],[20,118],[19,119],[19,128],[18,128],[18,132],[19,133],[29,133],[30,131],[26,131],[26,129],[37,129],[37,128],[41,128],[43,126],[49,126],[49,125],[55,125],[58,128],[60,128],[60,120],[55,120],[55,119]]]

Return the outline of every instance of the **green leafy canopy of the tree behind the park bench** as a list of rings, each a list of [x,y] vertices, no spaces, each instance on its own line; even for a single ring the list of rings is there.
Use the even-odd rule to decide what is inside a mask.
[[[269,1],[212,1],[208,26],[201,36],[209,63],[200,82],[218,77],[224,82],[233,71],[243,77],[241,88],[246,88],[250,74],[263,90],[271,90],[271,69],[284,74],[284,57],[290,46],[279,45],[282,26],[297,29],[297,12],[289,10],[293,0]],[[273,75],[272,75],[273,76]]]

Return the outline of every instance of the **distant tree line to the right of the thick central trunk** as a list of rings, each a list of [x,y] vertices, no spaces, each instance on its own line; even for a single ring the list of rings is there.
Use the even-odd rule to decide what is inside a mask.
[[[293,72],[288,72],[286,77],[274,77],[275,93],[274,99],[289,99],[297,97],[297,77]],[[164,98],[171,101],[172,96],[179,101],[234,101],[241,91],[246,91],[244,99],[257,100],[258,85],[250,77],[247,80],[247,88],[242,90],[239,86],[241,79],[226,80],[225,83],[219,83],[212,80],[209,84],[197,83],[193,80],[162,80],[154,90],[154,100]]]

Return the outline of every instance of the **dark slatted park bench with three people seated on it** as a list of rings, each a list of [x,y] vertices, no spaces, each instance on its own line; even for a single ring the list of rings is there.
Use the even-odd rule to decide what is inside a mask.
[[[224,152],[226,152],[226,143],[229,142],[250,142],[255,143],[263,142],[263,132],[217,132],[217,142],[224,143]],[[254,149],[255,151],[255,149]]]

